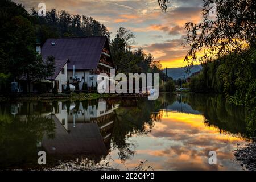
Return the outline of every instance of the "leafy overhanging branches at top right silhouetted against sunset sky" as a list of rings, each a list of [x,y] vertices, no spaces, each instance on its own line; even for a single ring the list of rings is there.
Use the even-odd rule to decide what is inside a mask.
[[[203,22],[185,24],[185,46],[191,47],[184,61],[192,66],[256,45],[256,2],[253,0],[205,0]],[[203,56],[199,56],[199,53]]]

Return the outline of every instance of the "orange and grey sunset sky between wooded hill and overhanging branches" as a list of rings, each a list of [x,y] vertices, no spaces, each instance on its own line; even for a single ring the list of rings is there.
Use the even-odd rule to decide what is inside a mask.
[[[46,3],[47,10],[67,10],[71,14],[92,16],[108,27],[111,38],[118,27],[126,27],[135,35],[135,48],[142,47],[161,60],[163,67],[175,68],[183,63],[188,48],[182,43],[184,23],[201,20],[203,0],[169,0],[166,13],[160,11],[157,0],[14,0],[26,9]]]

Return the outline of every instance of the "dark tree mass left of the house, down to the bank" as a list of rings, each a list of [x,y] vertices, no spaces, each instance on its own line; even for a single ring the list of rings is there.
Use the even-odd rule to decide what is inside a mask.
[[[52,75],[54,60],[45,63],[36,53],[35,28],[24,7],[8,0],[1,1],[1,7],[0,72],[10,73],[12,79],[26,77],[30,91],[31,81]]]

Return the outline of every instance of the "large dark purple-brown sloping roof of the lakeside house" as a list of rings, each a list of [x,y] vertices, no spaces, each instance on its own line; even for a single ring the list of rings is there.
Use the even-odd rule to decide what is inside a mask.
[[[76,69],[96,69],[106,40],[106,36],[47,39],[42,47],[42,56],[44,59],[50,55],[56,60],[68,59],[68,69],[73,65]]]

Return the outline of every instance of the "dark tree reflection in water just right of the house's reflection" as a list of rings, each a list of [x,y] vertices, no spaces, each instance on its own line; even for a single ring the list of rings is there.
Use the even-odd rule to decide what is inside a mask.
[[[152,129],[154,122],[159,121],[158,112],[162,106],[159,100],[149,101],[147,98],[139,98],[137,107],[120,107],[114,111],[112,143],[118,148],[122,162],[134,154],[134,144],[127,143],[127,138],[147,134],[149,131],[147,129]],[[155,120],[156,118],[158,120]]]

